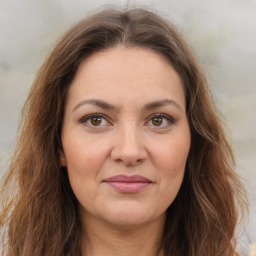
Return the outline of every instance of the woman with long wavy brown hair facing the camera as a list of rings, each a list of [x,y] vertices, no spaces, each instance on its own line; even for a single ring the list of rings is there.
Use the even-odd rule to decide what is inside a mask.
[[[82,20],[23,116],[1,192],[4,255],[237,255],[246,196],[232,150],[200,67],[161,17]]]

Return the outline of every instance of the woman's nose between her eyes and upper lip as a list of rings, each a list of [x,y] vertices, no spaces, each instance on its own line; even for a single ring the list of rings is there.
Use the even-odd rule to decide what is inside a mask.
[[[135,124],[124,124],[118,130],[111,158],[126,166],[135,166],[145,161],[147,152],[139,128]]]

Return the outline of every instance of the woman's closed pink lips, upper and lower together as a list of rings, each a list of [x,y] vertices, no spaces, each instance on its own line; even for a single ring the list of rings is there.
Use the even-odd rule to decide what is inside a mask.
[[[116,175],[104,180],[109,186],[123,193],[136,193],[152,184],[149,179],[140,176]]]

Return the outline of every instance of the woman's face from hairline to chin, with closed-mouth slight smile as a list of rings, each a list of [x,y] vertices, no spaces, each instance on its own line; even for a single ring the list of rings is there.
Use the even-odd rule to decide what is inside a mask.
[[[177,72],[143,48],[118,46],[87,58],[67,97],[62,143],[83,220],[163,220],[190,148]]]

